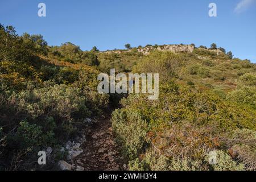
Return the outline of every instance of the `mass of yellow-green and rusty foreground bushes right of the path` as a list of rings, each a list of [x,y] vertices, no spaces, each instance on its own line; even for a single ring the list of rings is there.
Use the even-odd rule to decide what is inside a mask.
[[[254,131],[255,111],[229,104],[210,92],[198,92],[170,83],[160,89],[159,100],[148,101],[143,95],[131,94],[121,101],[122,110],[115,111],[113,126],[121,146],[127,141],[144,141],[147,145],[133,145],[130,169],[146,170],[242,170],[245,167],[228,154],[233,132],[237,129]],[[125,111],[125,112],[124,112]],[[132,130],[133,123],[127,115],[139,113],[134,119],[137,127],[148,123],[142,135]],[[118,117],[117,117],[118,116]],[[116,123],[127,123],[117,125]],[[140,127],[138,127],[140,128]],[[125,131],[125,132],[121,132]],[[134,135],[135,134],[135,135]],[[241,137],[240,137],[241,139]],[[130,144],[131,142],[129,142]],[[137,146],[137,148],[136,148]],[[136,148],[136,149],[135,149]],[[208,153],[217,152],[218,163],[208,163]],[[126,150],[125,151],[129,151]],[[141,152],[141,153],[138,153]],[[146,152],[146,155],[144,154]],[[247,157],[252,154],[247,152]],[[250,157],[249,157],[250,156]],[[137,158],[136,158],[137,157]],[[244,164],[244,163],[243,163]]]

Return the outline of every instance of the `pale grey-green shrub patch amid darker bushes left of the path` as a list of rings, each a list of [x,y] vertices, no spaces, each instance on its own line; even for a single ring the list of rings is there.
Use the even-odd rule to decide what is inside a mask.
[[[70,119],[74,113],[89,115],[86,98],[79,88],[66,85],[55,85],[49,88],[34,89],[13,94],[18,111],[26,111],[32,118],[53,113],[55,116]]]

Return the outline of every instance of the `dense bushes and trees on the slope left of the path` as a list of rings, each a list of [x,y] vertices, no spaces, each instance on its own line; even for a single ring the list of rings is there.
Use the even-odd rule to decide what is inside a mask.
[[[109,96],[97,92],[97,71],[84,66],[97,65],[92,52],[71,43],[47,47],[40,35],[19,37],[3,26],[0,49],[0,168],[35,169],[38,151],[59,150],[77,123],[101,115]],[[48,55],[84,64],[60,67]]]

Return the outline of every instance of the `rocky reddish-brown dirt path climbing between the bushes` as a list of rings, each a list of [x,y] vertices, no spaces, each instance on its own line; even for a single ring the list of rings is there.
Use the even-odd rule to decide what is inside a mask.
[[[106,114],[105,118],[93,123],[82,149],[83,155],[76,159],[76,163],[84,167],[86,171],[126,169],[123,158],[118,152],[118,145],[114,142],[110,114]]]

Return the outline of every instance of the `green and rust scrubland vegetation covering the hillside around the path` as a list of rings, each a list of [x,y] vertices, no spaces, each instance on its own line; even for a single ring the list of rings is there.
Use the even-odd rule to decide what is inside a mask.
[[[50,47],[42,35],[0,26],[0,169],[35,169],[39,150],[59,148],[110,105],[130,170],[256,169],[255,64],[217,53],[216,44],[149,55],[126,48]],[[110,68],[159,73],[159,100],[99,94],[97,75]],[[217,164],[209,164],[210,151]]]

